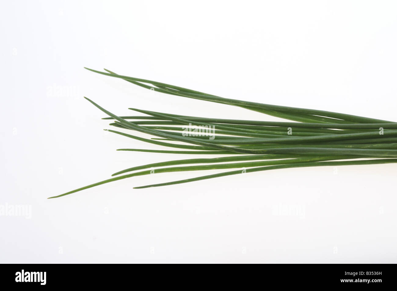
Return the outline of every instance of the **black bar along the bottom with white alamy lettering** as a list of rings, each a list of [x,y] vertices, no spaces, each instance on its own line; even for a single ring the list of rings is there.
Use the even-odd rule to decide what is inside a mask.
[[[260,284],[264,288],[280,290],[306,286],[379,288],[392,287],[396,283],[393,264],[268,264],[241,270],[229,267],[192,266],[184,267],[183,271],[173,271],[169,267],[146,270],[131,264],[3,264],[0,283],[2,289],[21,286],[90,286],[102,289],[126,284],[133,289],[141,284],[152,287],[155,283],[190,289],[205,283],[207,287],[231,285],[245,288]],[[187,285],[187,282],[190,283]]]

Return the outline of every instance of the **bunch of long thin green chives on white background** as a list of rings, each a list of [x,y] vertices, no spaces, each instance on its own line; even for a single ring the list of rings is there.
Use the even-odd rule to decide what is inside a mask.
[[[108,115],[108,117],[103,119],[114,120],[114,122],[110,123],[111,126],[146,133],[152,135],[153,138],[145,139],[117,130],[105,130],[167,148],[166,150],[139,148],[121,148],[118,150],[201,154],[208,155],[208,157],[134,166],[112,174],[113,177],[110,179],[49,198],[57,198],[112,181],[152,173],[239,169],[167,183],[134,187],[134,189],[200,181],[236,175],[242,172],[397,162],[396,122],[324,110],[223,98],[166,83],[118,75],[107,69],[105,69],[106,72],[89,70],[102,75],[120,78],[160,93],[238,106],[289,121],[201,118],[136,108],[129,109],[145,115],[117,116],[85,97],[99,110]],[[187,126],[189,128],[195,127],[196,129],[210,129],[210,138],[208,138],[208,134],[186,135]],[[293,135],[289,134],[291,130],[293,130]],[[172,150],[172,148],[178,150]],[[214,154],[227,156],[213,158],[212,155]],[[191,164],[195,165],[189,166]],[[153,170],[153,168],[156,169]]]

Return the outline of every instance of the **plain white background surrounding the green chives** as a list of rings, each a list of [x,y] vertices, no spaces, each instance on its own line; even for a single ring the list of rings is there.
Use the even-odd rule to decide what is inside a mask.
[[[4,2],[0,204],[32,213],[0,216],[0,262],[397,262],[395,164],[132,189],[209,172],[163,173],[46,199],[131,166],[196,157],[116,152],[168,148],[106,134],[83,96],[119,115],[278,120],[84,66],[396,121],[396,15],[395,1]]]

